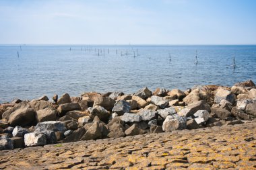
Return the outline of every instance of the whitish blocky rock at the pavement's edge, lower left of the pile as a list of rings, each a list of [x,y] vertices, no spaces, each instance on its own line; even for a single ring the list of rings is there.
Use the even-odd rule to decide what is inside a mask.
[[[25,146],[44,146],[46,144],[46,136],[40,132],[32,132],[24,136]]]

